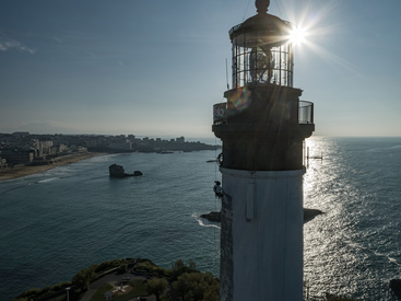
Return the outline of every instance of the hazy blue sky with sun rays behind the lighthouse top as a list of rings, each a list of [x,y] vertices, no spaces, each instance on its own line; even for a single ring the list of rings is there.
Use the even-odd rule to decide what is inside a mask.
[[[213,137],[253,0],[0,0],[0,132]],[[271,0],[314,135],[401,136],[401,1]],[[231,72],[228,74],[231,84]]]

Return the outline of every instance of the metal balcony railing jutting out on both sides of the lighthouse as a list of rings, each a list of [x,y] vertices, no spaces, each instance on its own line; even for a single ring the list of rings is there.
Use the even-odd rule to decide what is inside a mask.
[[[213,105],[213,124],[227,123],[227,103]],[[314,124],[314,103],[307,101],[298,102],[298,124]]]

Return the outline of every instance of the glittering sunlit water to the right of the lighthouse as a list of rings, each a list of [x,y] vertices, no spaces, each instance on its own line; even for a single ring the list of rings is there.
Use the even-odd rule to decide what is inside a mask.
[[[307,140],[310,155],[322,152],[323,160],[309,161],[304,204],[325,212],[304,227],[304,278],[309,296],[330,292],[391,300],[388,283],[400,275],[397,258],[401,258],[396,251],[400,240],[394,239],[400,238],[401,223],[391,208],[400,204],[397,178],[401,177],[400,169],[393,166],[399,163],[389,164],[389,158],[400,161],[400,140]],[[378,158],[377,152],[384,151],[391,157]],[[389,256],[394,253],[398,256]]]

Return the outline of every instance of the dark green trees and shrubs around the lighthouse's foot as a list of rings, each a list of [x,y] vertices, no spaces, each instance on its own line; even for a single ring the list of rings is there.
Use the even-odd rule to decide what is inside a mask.
[[[172,296],[176,297],[175,300],[181,301],[219,301],[219,278],[209,271],[201,273],[197,270],[193,262],[190,262],[187,266],[181,259],[178,259],[172,265],[170,269],[166,269],[143,258],[115,259],[99,265],[92,265],[78,271],[71,281],[43,289],[30,289],[21,293],[14,301],[66,300],[66,288],[69,287],[71,288],[70,300],[80,300],[91,282],[102,279],[103,276],[114,274],[116,280],[103,283],[91,298],[91,301],[103,301],[104,294],[114,290],[115,281],[121,281],[121,277],[118,275],[126,274],[131,268],[137,279],[122,279],[127,290],[113,296],[114,301],[127,301],[145,296],[155,296],[157,301],[170,300]],[[127,278],[126,276],[125,278]],[[314,301],[314,298],[308,300]],[[322,299],[319,298],[318,300]],[[352,301],[352,299],[332,294],[327,294],[325,300]]]

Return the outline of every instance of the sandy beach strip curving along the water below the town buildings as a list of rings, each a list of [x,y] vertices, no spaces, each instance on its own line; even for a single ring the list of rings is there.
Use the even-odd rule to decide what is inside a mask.
[[[39,165],[39,166],[26,166],[22,164],[16,165],[14,169],[0,170],[0,182],[5,180],[19,178],[26,175],[43,173],[57,166],[67,165],[85,159],[105,154],[106,153],[102,152],[72,153],[56,158],[57,161],[49,165]]]

